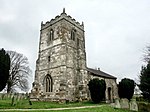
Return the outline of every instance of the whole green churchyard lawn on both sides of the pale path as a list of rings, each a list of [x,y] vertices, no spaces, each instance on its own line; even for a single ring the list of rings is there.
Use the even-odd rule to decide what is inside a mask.
[[[16,101],[14,106],[11,106],[11,99],[0,100],[0,111],[3,109],[50,109],[50,108],[66,108],[66,107],[80,107],[80,106],[100,106],[95,108],[84,108],[84,109],[70,109],[70,110],[51,110],[51,112],[131,112],[129,110],[114,109],[106,104],[93,104],[92,102],[77,102],[77,103],[54,103],[54,102],[32,102],[29,105],[28,100]],[[104,106],[103,106],[104,105]],[[34,110],[30,112],[48,112],[50,110]],[[6,111],[5,111],[6,112]],[[16,110],[9,112],[19,112]],[[28,112],[24,110],[23,112]]]

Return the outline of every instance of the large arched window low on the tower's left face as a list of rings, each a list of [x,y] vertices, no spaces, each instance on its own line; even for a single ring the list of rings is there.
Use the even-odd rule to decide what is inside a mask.
[[[48,74],[44,78],[44,86],[46,92],[52,92],[53,85],[52,85],[52,77]]]

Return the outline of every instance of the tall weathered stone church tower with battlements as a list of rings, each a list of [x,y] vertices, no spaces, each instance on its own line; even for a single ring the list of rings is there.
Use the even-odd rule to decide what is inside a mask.
[[[32,100],[87,99],[84,25],[63,12],[41,23]]]

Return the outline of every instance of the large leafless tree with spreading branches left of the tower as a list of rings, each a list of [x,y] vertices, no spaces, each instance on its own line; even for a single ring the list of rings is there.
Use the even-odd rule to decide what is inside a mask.
[[[16,88],[27,92],[29,90],[28,79],[31,74],[27,57],[15,51],[7,51],[7,53],[11,60],[7,93],[16,91]]]

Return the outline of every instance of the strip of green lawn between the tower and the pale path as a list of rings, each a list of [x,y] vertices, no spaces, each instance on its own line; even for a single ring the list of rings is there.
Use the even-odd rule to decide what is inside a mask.
[[[32,105],[29,105],[28,100],[20,100],[16,101],[15,105],[11,105],[11,99],[0,100],[0,109],[7,109],[7,108],[25,108],[25,109],[38,109],[38,108],[63,108],[63,107],[79,107],[79,106],[92,106],[92,105],[100,105],[100,104],[93,104],[92,102],[77,102],[77,103],[55,103],[55,102],[32,102]]]

